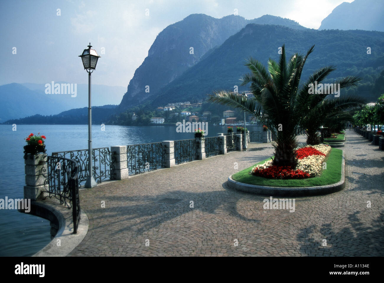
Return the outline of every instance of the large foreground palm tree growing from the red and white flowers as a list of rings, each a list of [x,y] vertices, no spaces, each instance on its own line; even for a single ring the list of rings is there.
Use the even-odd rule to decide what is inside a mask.
[[[333,71],[333,66],[324,67],[313,73],[300,86],[304,64],[313,50],[314,45],[305,56],[295,53],[287,63],[283,45],[279,62],[268,60],[268,71],[259,61],[248,58],[245,66],[251,72],[243,75],[240,80],[242,80],[241,85],[251,83],[250,90],[253,98],[244,99],[228,91],[215,91],[208,99],[210,102],[247,111],[271,128],[275,140],[273,164],[277,166],[296,167],[296,127],[300,125],[301,120],[311,108],[318,104],[317,99],[311,97],[310,85],[315,81],[321,83]],[[355,85],[358,80],[358,78],[348,77],[338,83],[342,88]]]

